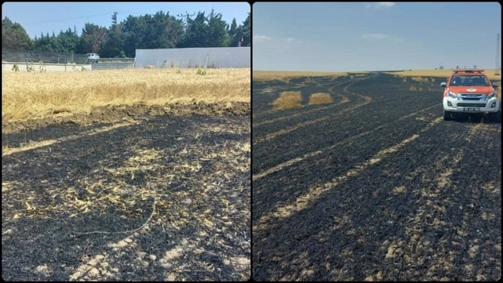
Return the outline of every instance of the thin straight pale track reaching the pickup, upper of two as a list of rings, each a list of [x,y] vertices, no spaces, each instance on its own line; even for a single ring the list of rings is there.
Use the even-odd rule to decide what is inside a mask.
[[[360,137],[362,137],[364,135],[369,135],[371,132],[375,132],[376,130],[380,130],[381,128],[385,128],[385,126],[388,126],[389,123],[393,123],[393,122],[396,122],[396,121],[407,119],[407,118],[412,117],[412,116],[417,115],[417,114],[421,114],[422,112],[426,112],[427,110],[430,110],[431,108],[438,107],[439,105],[442,105],[442,103],[432,105],[432,106],[430,106],[428,108],[424,108],[423,110],[420,110],[420,111],[417,111],[417,112],[414,112],[414,113],[411,113],[411,114],[407,114],[407,115],[405,115],[403,117],[400,117],[400,118],[396,119],[395,121],[391,121],[391,122],[382,124],[381,126],[378,126],[376,128],[373,128],[372,130],[368,130],[366,132],[361,132],[358,135],[354,135],[353,137],[349,137],[347,139],[339,141],[336,144],[333,144],[332,146],[328,146],[326,148],[323,148],[320,151],[312,151],[310,153],[306,153],[305,155],[292,158],[291,160],[288,160],[288,161],[285,161],[285,162],[283,162],[281,164],[273,166],[270,169],[266,169],[266,170],[264,170],[264,171],[262,171],[260,173],[254,174],[252,176],[252,180],[256,181],[256,180],[261,179],[261,178],[263,178],[263,177],[265,177],[265,176],[267,176],[267,175],[269,175],[271,173],[274,173],[274,172],[277,172],[277,171],[281,171],[281,170],[285,169],[288,166],[292,166],[293,164],[296,164],[297,162],[301,162],[302,160],[305,160],[306,158],[319,155],[321,153],[324,153],[325,151],[330,151],[331,149],[333,149],[333,148],[335,148],[337,146],[340,146],[342,144],[347,144],[348,142],[351,142],[351,141],[353,141],[355,139],[358,139],[358,138],[360,138]]]

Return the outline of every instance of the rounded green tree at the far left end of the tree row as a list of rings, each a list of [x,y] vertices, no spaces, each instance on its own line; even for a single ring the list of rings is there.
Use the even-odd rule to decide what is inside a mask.
[[[2,19],[2,49],[29,50],[33,45],[23,26],[8,17]]]

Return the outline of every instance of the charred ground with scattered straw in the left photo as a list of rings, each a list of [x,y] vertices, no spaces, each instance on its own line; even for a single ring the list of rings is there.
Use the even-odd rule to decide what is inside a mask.
[[[3,125],[3,279],[248,280],[249,122],[195,103]]]

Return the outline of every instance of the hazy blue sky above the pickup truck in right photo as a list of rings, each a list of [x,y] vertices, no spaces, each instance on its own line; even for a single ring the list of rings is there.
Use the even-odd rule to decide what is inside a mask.
[[[253,69],[494,69],[497,2],[256,2]]]

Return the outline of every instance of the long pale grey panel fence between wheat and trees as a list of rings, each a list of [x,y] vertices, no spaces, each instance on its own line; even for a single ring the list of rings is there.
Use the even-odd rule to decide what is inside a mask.
[[[136,49],[135,68],[249,68],[250,47]]]

